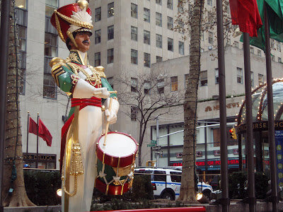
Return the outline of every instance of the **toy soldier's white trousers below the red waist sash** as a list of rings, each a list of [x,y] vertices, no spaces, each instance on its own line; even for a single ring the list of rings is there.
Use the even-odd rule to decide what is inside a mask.
[[[103,115],[100,107],[86,106],[79,112],[79,143],[83,161],[83,175],[78,176],[78,189],[74,196],[69,196],[69,212],[90,211],[94,182],[97,177],[96,143],[103,129]],[[69,133],[68,133],[69,134]],[[68,137],[68,136],[67,136]],[[67,146],[66,146],[67,147]],[[66,148],[65,148],[66,150]],[[66,151],[65,151],[66,154]],[[70,177],[69,192],[74,191],[74,176]],[[62,212],[64,197],[62,192]]]

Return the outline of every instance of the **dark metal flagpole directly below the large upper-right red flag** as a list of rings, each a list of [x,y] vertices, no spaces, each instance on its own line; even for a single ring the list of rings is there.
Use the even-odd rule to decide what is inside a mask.
[[[245,66],[245,92],[246,92],[246,145],[248,150],[248,204],[250,212],[255,211],[255,173],[253,161],[253,114],[252,92],[250,90],[250,38],[248,33],[243,33],[243,61]]]

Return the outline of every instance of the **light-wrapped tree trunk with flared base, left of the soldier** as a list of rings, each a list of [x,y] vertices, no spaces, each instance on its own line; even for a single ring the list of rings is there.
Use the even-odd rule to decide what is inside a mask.
[[[18,68],[18,40],[11,2],[11,28],[9,32],[8,88],[6,107],[6,141],[4,151],[3,206],[35,206],[25,192],[23,179],[23,151],[20,119],[20,69]]]

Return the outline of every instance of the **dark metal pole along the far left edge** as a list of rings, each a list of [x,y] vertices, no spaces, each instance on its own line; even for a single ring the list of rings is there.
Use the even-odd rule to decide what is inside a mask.
[[[6,139],[6,98],[8,78],[8,36],[10,32],[10,0],[1,0],[1,32],[0,32],[0,212],[4,211],[3,178],[4,178],[4,143]]]

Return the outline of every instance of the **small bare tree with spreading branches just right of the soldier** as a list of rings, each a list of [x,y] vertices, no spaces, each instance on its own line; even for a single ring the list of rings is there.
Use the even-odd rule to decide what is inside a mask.
[[[141,165],[141,146],[149,121],[155,119],[154,113],[175,114],[178,109],[173,107],[183,104],[182,92],[176,93],[168,90],[170,77],[166,72],[155,73],[124,73],[117,78],[126,89],[119,93],[120,105],[126,105],[129,110],[121,110],[132,120],[139,122],[139,165]],[[179,111],[180,112],[180,111]]]

